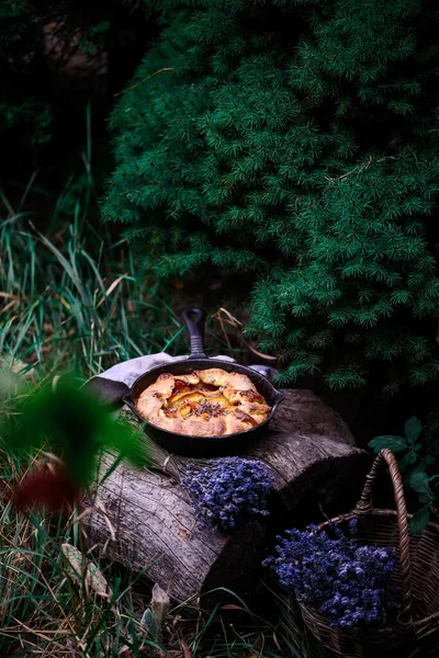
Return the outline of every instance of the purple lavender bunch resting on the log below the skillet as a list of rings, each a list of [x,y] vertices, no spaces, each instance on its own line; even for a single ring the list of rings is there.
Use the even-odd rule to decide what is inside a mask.
[[[266,517],[273,478],[258,461],[226,457],[209,466],[188,464],[182,485],[200,527],[228,531],[252,514]]]

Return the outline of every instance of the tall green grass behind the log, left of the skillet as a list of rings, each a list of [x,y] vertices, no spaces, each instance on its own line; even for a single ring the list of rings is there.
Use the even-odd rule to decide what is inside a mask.
[[[20,361],[40,374],[68,366],[90,376],[180,347],[183,328],[157,285],[136,274],[130,257],[116,261],[111,245],[87,232],[78,217],[61,239],[36,231],[23,213],[3,218],[0,354],[7,365]]]

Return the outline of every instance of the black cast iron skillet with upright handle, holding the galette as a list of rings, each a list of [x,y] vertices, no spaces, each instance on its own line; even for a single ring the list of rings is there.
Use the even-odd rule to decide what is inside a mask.
[[[124,396],[123,401],[132,409],[137,418],[142,420],[145,432],[169,452],[187,456],[212,456],[239,453],[248,447],[248,445],[256,442],[264,430],[267,430],[267,426],[274,416],[279,402],[283,400],[284,395],[280,390],[277,390],[263,375],[250,367],[238,365],[237,363],[232,363],[229,361],[223,361],[222,359],[209,359],[209,356],[206,356],[204,353],[204,310],[201,308],[191,308],[190,310],[184,310],[182,316],[191,339],[190,356],[184,359],[184,361],[159,365],[137,377],[130,394]],[[210,367],[221,367],[226,372],[247,375],[255,384],[258,393],[266,398],[267,404],[271,407],[267,420],[245,432],[226,434],[225,436],[190,436],[187,434],[175,434],[168,430],[157,428],[146,421],[145,418],[137,412],[137,398],[145,388],[153,384],[162,373],[188,375],[194,370],[207,370]]]

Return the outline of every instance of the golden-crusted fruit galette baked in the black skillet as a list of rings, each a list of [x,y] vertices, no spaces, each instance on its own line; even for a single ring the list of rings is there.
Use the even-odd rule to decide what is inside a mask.
[[[149,423],[189,436],[223,436],[249,430],[270,407],[246,375],[212,367],[189,375],[162,373],[136,401]]]

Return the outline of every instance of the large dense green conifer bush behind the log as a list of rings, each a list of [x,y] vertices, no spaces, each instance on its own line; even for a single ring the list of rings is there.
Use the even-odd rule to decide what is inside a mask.
[[[436,381],[439,46],[428,0],[164,0],[103,202],[147,271],[252,272],[281,382]]]

